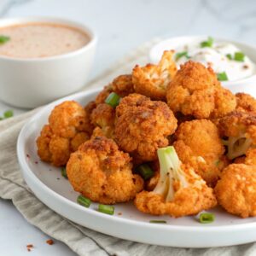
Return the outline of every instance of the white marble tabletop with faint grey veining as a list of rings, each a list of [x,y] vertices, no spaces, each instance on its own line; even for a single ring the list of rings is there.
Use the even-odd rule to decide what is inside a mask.
[[[57,16],[94,28],[99,44],[91,78],[154,37],[207,34],[256,44],[255,0],[0,0],[0,15]],[[0,116],[9,108],[0,102]],[[50,247],[47,239],[11,202],[0,200],[0,255],[27,255],[28,243],[35,245],[32,255],[74,255],[61,242]]]

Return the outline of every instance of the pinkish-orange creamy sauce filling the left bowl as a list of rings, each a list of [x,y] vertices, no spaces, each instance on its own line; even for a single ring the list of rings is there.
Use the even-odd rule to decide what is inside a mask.
[[[0,55],[25,59],[66,54],[90,41],[79,29],[52,23],[4,26],[0,28],[1,36],[9,40],[0,44]]]

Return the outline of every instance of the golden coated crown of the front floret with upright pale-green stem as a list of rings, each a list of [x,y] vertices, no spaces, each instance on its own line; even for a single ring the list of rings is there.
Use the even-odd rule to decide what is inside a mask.
[[[137,209],[154,215],[169,214],[178,218],[215,207],[217,201],[213,189],[207,187],[207,184],[195,174],[191,167],[183,165],[182,168],[189,183],[185,188],[180,188],[179,184],[176,184],[172,201],[165,201],[162,195],[154,191],[143,191],[136,195]]]

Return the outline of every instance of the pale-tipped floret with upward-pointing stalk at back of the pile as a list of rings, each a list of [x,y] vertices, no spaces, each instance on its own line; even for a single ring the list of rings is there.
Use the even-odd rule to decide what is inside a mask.
[[[135,92],[153,100],[166,100],[166,87],[177,72],[173,50],[166,50],[158,65],[138,65],[133,68],[132,83]]]

